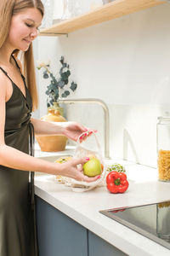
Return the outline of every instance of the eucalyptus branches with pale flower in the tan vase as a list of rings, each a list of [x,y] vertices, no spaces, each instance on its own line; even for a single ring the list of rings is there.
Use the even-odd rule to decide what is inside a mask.
[[[47,86],[46,95],[47,106],[53,106],[54,102],[58,102],[59,97],[67,97],[70,95],[70,90],[77,90],[77,84],[69,82],[71,72],[69,65],[65,62],[64,56],[60,58],[61,67],[59,69],[59,78],[54,76],[49,63],[40,63],[37,69],[42,69],[43,79],[50,79],[50,84]]]

